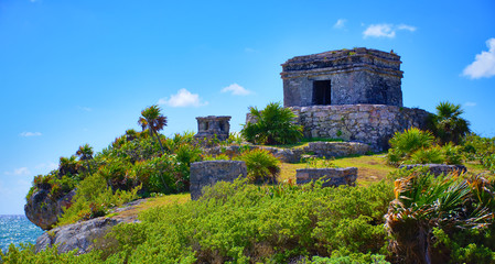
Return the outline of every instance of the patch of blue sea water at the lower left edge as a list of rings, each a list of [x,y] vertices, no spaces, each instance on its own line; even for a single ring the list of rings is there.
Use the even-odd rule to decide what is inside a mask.
[[[43,230],[34,226],[25,216],[0,215],[0,249],[6,252],[10,243],[35,243]]]

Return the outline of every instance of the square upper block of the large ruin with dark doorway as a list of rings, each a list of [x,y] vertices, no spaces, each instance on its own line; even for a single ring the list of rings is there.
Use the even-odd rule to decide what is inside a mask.
[[[282,64],[283,106],[402,107],[400,56],[364,47],[298,56]]]

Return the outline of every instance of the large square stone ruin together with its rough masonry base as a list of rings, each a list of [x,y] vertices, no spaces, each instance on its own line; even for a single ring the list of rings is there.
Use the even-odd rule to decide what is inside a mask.
[[[283,106],[297,114],[305,138],[387,150],[395,132],[424,128],[429,114],[402,107],[400,64],[394,52],[364,47],[293,57],[282,64]]]

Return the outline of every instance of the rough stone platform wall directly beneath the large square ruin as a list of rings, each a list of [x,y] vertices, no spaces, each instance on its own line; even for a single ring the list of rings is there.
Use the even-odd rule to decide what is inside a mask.
[[[385,105],[346,105],[291,107],[297,123],[304,127],[305,138],[333,138],[359,141],[373,151],[387,150],[388,140],[397,131],[423,129],[428,112],[418,108]]]

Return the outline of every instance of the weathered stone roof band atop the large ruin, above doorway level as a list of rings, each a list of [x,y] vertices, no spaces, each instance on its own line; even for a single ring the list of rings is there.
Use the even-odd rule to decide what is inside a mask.
[[[400,56],[395,53],[381,52],[373,48],[356,47],[338,50],[305,56],[297,56],[282,64],[282,78],[293,72],[308,70],[353,70],[367,68],[387,72],[387,74],[402,76]]]

